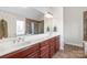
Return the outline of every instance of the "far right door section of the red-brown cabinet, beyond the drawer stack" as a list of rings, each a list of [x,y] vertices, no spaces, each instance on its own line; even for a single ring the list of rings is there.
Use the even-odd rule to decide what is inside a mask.
[[[59,36],[55,36],[48,41],[50,44],[50,57],[59,51]]]

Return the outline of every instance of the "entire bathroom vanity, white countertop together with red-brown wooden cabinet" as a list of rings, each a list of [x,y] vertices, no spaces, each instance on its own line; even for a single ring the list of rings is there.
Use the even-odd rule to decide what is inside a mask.
[[[42,37],[41,37],[42,36]],[[25,37],[24,37],[25,39]],[[28,39],[28,37],[26,37]],[[1,58],[51,58],[59,51],[58,34],[39,34],[0,50]],[[1,47],[0,47],[1,48]]]

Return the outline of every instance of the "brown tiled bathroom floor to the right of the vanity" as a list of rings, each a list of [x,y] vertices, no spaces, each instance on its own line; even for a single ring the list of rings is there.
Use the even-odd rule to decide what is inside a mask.
[[[64,51],[57,52],[53,58],[83,58],[83,47],[65,44]]]

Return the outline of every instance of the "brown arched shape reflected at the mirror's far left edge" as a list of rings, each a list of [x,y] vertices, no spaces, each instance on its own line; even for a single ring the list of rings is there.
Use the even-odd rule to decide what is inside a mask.
[[[4,19],[0,20],[0,39],[8,37],[8,24]]]

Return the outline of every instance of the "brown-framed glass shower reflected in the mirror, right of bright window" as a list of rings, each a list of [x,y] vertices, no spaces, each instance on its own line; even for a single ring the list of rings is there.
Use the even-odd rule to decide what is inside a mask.
[[[25,20],[25,34],[42,34],[44,33],[44,21]]]

